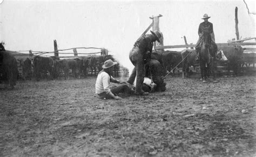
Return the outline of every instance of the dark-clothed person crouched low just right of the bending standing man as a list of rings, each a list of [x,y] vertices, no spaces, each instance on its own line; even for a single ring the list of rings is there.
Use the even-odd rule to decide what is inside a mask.
[[[152,80],[150,79],[152,77]],[[166,90],[163,68],[158,60],[151,59],[146,64],[146,78],[143,82],[145,92],[164,92]]]

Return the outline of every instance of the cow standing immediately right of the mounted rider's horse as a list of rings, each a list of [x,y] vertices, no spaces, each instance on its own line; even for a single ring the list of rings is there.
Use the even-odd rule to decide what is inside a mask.
[[[228,76],[231,69],[233,69],[234,75],[237,75],[242,64],[244,49],[241,46],[218,46],[218,51],[221,50],[227,58]]]

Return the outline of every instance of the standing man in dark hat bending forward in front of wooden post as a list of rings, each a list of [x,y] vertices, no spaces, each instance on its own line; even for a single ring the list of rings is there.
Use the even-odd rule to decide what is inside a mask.
[[[150,32],[151,34],[143,35],[137,39],[129,54],[129,58],[135,67],[127,82],[133,84],[135,77],[137,76],[135,86],[135,94],[137,95],[149,94],[142,90],[143,80],[145,77],[145,64],[149,62],[151,58],[153,42],[156,42],[156,40],[160,42],[159,39],[161,38],[159,31]]]

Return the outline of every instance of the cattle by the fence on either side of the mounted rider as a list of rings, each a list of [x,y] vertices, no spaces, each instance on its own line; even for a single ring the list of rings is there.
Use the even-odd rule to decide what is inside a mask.
[[[228,73],[233,70],[235,74],[241,67],[244,49],[241,46],[219,46],[217,51],[217,66],[227,66]],[[186,77],[190,76],[189,67],[199,66],[195,59],[196,51],[194,49],[185,49],[183,51],[154,51],[151,59],[158,60],[164,68],[164,71],[171,71],[174,74],[175,67],[182,68]]]

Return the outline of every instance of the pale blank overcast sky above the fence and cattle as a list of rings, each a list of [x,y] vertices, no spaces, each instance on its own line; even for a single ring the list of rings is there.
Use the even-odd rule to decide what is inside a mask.
[[[255,1],[245,0],[251,12]],[[7,50],[53,51],[71,47],[105,47],[127,67],[133,43],[160,17],[164,45],[196,43],[204,13],[211,16],[216,43],[235,38],[235,6],[242,38],[256,37],[255,16],[237,1],[10,1],[0,4],[0,40]],[[97,50],[98,51],[98,50]],[[65,51],[68,52],[68,51]],[[70,51],[69,51],[70,52]],[[72,52],[72,51],[71,51]],[[78,52],[85,52],[78,50]],[[88,52],[88,51],[86,51]],[[95,52],[90,50],[90,52]]]

